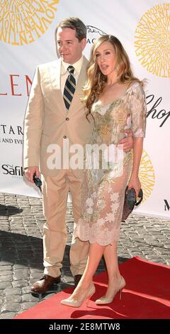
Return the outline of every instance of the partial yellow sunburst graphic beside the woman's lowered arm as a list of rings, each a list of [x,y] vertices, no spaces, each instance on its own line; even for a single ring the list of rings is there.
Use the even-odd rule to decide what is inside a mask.
[[[155,182],[154,167],[145,150],[142,152],[139,178],[144,195],[143,201],[145,201],[152,194]]]

